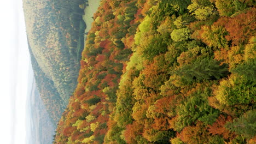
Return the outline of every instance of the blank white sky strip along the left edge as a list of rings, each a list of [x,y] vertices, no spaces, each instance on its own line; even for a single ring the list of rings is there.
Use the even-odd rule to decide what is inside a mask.
[[[25,143],[28,53],[22,0],[0,1],[0,139]]]

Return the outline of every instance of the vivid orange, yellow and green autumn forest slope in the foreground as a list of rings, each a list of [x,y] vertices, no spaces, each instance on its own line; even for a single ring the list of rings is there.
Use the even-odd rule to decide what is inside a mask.
[[[102,0],[54,143],[255,143],[253,0]]]

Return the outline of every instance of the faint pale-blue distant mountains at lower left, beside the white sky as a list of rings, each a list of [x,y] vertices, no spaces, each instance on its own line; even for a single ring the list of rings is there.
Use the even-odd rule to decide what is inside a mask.
[[[27,99],[27,143],[53,143],[56,125],[45,109],[34,78],[30,92]]]

